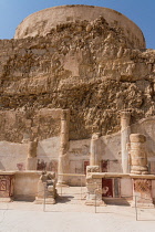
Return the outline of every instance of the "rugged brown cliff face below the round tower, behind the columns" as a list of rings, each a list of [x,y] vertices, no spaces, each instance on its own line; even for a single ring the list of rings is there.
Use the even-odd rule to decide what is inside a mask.
[[[0,140],[56,136],[52,108],[70,109],[70,139],[118,131],[123,109],[133,123],[154,115],[155,51],[132,48],[103,18],[58,24],[44,38],[1,40]]]

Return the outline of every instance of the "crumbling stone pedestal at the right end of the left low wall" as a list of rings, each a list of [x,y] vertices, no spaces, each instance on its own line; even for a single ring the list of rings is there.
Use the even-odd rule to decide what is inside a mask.
[[[35,197],[35,203],[54,204],[56,198],[55,189],[55,173],[42,172],[38,182],[38,194]]]

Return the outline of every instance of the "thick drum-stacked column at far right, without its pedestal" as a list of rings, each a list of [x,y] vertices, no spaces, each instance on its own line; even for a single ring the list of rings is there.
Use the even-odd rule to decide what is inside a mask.
[[[130,136],[131,173],[148,173],[147,154],[145,148],[146,137],[141,134]]]

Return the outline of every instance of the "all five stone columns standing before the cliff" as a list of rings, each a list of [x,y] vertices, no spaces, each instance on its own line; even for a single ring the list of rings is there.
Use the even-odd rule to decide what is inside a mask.
[[[58,184],[65,184],[63,173],[69,172],[69,109],[61,112],[61,133],[60,133],[60,154],[58,166]],[[122,151],[122,170],[123,173],[147,173],[147,156],[145,151],[145,136],[140,134],[131,134],[131,113],[121,113],[121,151]],[[130,145],[127,148],[126,145]],[[30,141],[28,149],[27,170],[37,170],[37,147],[38,140]],[[100,147],[100,134],[92,135],[90,147],[90,166],[100,166],[100,157],[97,154]],[[130,154],[130,156],[128,156]],[[131,157],[131,158],[130,158]],[[131,168],[131,170],[130,170]]]

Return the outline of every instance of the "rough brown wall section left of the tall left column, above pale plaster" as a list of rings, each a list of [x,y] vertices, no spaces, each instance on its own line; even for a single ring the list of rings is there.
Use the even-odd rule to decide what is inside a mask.
[[[0,140],[24,143],[38,138],[39,140],[59,136],[60,110],[43,108],[33,110],[0,110]]]

